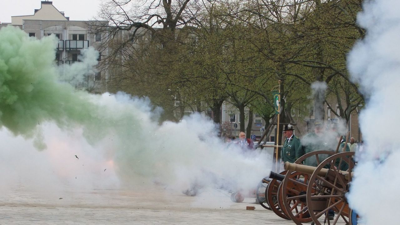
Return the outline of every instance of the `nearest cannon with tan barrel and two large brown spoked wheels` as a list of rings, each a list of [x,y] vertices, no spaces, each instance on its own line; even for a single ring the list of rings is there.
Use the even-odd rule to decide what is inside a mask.
[[[329,219],[328,212],[331,210],[335,216],[329,224],[351,224],[346,193],[352,179],[353,157],[353,152],[337,153],[318,163],[317,167],[286,163],[288,174],[300,173],[304,180],[308,180],[308,183],[300,183],[298,177],[292,179],[286,175],[282,181],[282,207],[294,223],[302,225],[312,219],[316,225],[321,225]],[[343,168],[348,169],[344,171]],[[297,187],[293,189],[291,184]],[[290,201],[295,202],[285,204]],[[295,205],[303,207],[299,210],[294,208]],[[303,215],[304,219],[300,219],[299,215]]]

